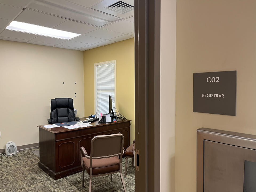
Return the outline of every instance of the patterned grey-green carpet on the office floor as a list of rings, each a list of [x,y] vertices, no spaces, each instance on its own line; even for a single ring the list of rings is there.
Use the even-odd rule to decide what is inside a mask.
[[[54,181],[38,167],[39,157],[37,148],[21,150],[20,153],[0,157],[0,192],[55,192],[55,191],[89,191],[89,175],[85,172],[85,187],[82,187],[82,172]],[[131,167],[132,160],[128,159],[127,175],[124,178],[127,192],[135,191],[135,168]],[[123,158],[122,172],[124,177],[125,158]],[[123,191],[119,173],[92,178],[92,191]]]

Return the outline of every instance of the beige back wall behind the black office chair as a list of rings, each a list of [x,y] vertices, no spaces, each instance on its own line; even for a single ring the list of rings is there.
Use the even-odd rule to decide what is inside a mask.
[[[83,52],[0,40],[0,90],[0,149],[38,143],[51,99],[73,98],[84,117]]]

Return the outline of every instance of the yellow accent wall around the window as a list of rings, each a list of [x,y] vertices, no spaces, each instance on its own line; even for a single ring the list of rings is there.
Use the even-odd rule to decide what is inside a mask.
[[[85,117],[94,114],[94,63],[116,60],[116,108],[131,119],[134,135],[134,38],[86,50],[84,56]]]

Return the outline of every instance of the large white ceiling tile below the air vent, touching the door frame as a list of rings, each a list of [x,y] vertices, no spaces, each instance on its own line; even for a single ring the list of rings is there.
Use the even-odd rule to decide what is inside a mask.
[[[130,21],[122,20],[122,21],[118,21],[110,25],[107,25],[103,28],[111,31],[127,34],[134,31],[134,23]]]

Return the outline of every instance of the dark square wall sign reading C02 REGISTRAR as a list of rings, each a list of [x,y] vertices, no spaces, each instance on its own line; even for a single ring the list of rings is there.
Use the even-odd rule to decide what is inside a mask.
[[[194,73],[193,111],[236,115],[237,71]]]

